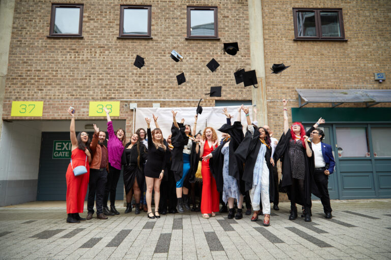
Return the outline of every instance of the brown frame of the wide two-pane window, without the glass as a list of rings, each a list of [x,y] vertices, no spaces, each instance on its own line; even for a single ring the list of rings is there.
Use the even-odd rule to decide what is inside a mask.
[[[345,28],[344,28],[344,19],[342,15],[342,8],[293,8],[293,25],[295,31],[294,40],[316,40],[316,41],[347,41],[345,39]],[[316,29],[316,37],[312,36],[298,36],[297,31],[297,12],[315,12],[315,29]],[[338,13],[341,36],[339,37],[322,37],[322,26],[320,21],[320,12],[322,11],[332,11]]]

